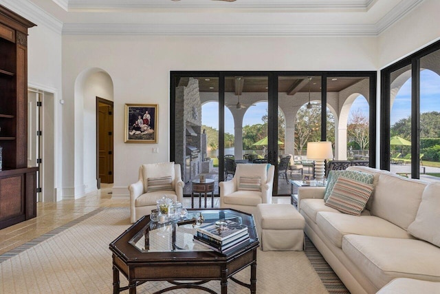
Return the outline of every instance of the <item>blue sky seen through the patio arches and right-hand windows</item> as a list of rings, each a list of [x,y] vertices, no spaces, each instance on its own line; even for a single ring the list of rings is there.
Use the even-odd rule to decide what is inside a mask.
[[[423,70],[420,73],[420,112],[440,112],[440,76],[430,70]],[[407,118],[411,112],[411,79],[408,79],[397,93],[395,101],[391,108],[391,125]],[[360,95],[351,105],[350,112],[357,109],[368,116],[369,104],[364,96]],[[201,123],[219,129],[219,109],[218,104],[214,102],[202,105]],[[243,125],[255,125],[263,123],[261,117],[267,113],[267,103],[256,103],[246,111],[243,118]],[[225,132],[234,134],[234,120],[230,110],[225,107]]]

